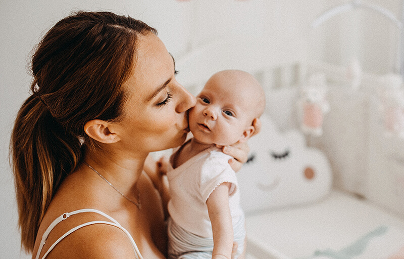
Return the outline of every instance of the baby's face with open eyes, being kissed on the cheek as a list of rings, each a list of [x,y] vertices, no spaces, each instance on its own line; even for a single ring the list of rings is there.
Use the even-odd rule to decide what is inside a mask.
[[[248,86],[221,78],[209,80],[189,111],[189,129],[204,144],[231,145],[251,125],[254,100]]]

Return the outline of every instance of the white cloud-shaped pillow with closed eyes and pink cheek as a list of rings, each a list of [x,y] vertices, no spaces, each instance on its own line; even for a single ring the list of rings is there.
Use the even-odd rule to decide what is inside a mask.
[[[309,203],[331,188],[325,155],[309,148],[298,131],[280,133],[264,116],[262,131],[248,141],[247,163],[237,172],[245,212]]]

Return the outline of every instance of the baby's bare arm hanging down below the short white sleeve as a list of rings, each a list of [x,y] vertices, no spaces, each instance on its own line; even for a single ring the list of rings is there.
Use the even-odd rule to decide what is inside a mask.
[[[231,258],[233,224],[229,207],[230,185],[230,183],[222,183],[206,201],[213,231],[212,259]]]

